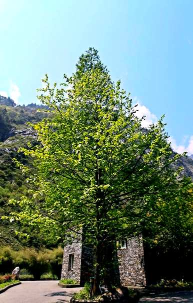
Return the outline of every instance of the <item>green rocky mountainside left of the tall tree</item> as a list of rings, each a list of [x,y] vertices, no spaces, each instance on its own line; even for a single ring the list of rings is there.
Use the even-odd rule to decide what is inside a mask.
[[[17,151],[19,147],[26,146],[27,142],[36,144],[36,134],[27,123],[35,124],[47,117],[47,113],[39,112],[39,109],[46,110],[47,107],[34,103],[16,106],[10,98],[0,96],[0,217],[11,211],[7,205],[9,199],[19,199],[20,195],[27,193],[24,177],[12,158],[30,166],[32,160]],[[8,221],[0,220],[0,245],[21,248],[43,244],[43,239],[34,235],[28,240],[20,240],[14,229],[24,232],[17,223],[9,224]]]

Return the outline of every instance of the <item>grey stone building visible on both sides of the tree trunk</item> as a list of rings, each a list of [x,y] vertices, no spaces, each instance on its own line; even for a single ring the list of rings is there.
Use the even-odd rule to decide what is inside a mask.
[[[131,237],[119,242],[117,274],[121,285],[145,286],[142,237]],[[80,285],[89,279],[93,270],[93,254],[84,241],[74,240],[64,247],[61,278],[71,278]]]

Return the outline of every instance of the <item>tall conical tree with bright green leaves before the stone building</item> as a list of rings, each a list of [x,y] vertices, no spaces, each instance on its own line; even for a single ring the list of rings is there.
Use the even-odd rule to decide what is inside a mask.
[[[39,100],[51,119],[34,126],[41,144],[23,150],[35,159],[37,173],[27,182],[36,190],[22,197],[22,211],[12,216],[38,224],[47,238],[78,238],[83,226],[94,249],[96,293],[102,277],[110,283],[105,247],[143,232],[155,221],[157,205],[188,196],[189,181],[172,166],[179,155],[171,151],[162,119],[141,127],[144,117],[136,117],[129,94],[112,82],[96,50],[79,58],[59,88],[47,76],[43,83]]]

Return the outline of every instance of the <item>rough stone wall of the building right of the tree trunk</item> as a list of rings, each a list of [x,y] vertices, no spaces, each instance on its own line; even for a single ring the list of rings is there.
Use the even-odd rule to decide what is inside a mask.
[[[127,239],[127,247],[117,251],[120,283],[125,286],[146,285],[142,237]]]

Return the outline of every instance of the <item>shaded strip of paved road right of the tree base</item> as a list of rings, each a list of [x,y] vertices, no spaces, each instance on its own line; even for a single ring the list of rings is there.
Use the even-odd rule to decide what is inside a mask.
[[[142,297],[139,303],[193,303],[192,291],[178,291]]]

